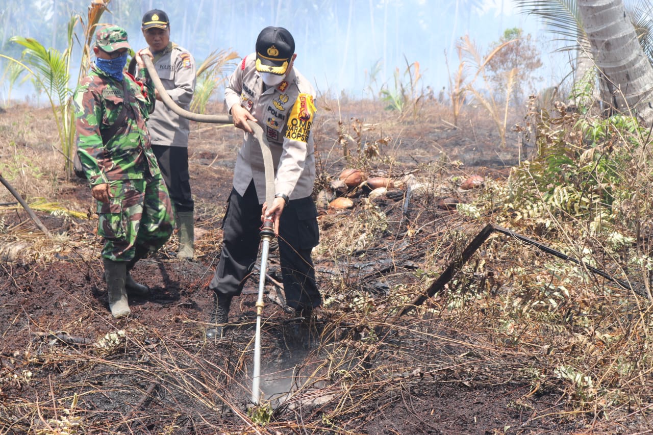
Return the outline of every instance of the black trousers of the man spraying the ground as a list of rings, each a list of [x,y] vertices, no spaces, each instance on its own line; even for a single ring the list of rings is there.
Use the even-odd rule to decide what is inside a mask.
[[[257,261],[262,208],[253,182],[243,196],[232,189],[223,222],[220,262],[209,284],[213,291],[232,296],[242,292],[246,276]],[[311,250],[318,242],[317,210],[313,199],[306,197],[289,201],[279,219],[279,261],[288,306],[316,307],[322,302],[311,260]]]

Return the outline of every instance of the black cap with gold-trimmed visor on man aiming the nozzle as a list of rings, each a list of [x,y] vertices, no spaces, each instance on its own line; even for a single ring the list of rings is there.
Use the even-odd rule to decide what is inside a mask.
[[[256,39],[256,71],[285,74],[295,54],[295,39],[283,27],[265,27]]]

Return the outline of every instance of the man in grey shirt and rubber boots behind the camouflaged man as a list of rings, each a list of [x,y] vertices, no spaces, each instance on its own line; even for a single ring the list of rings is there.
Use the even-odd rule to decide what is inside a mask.
[[[143,36],[152,53],[152,63],[161,78],[163,87],[172,101],[189,110],[195,91],[196,66],[193,56],[170,41],[170,20],[163,10],[153,9],[142,19]],[[159,91],[155,92],[161,100]],[[194,210],[188,172],[189,120],[168,109],[163,103],[155,105],[148,121],[152,150],[170,192],[179,228],[178,257],[192,259],[194,249]]]

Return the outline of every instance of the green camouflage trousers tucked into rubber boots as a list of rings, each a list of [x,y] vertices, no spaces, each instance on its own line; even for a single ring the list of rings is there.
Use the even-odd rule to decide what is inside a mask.
[[[102,257],[131,261],[138,250],[161,248],[174,229],[174,213],[163,178],[109,182],[109,203],[97,203],[97,234],[104,238]]]

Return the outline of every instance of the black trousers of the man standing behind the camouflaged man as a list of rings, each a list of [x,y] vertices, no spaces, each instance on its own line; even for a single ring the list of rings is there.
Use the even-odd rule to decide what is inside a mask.
[[[152,151],[157,156],[174,211],[192,212],[195,202],[191,195],[191,176],[188,172],[188,148],[152,145]]]

